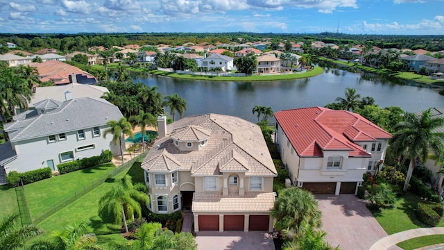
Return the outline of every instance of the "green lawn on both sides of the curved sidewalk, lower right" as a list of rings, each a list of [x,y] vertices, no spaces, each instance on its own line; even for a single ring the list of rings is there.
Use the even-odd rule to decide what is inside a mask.
[[[416,219],[414,209],[418,201],[420,201],[418,196],[408,193],[396,201],[395,208],[386,208],[373,213],[373,216],[388,235],[413,228],[429,227]],[[444,226],[444,222],[441,221],[437,226]],[[433,235],[427,238],[407,240],[401,242],[398,246],[403,249],[417,249],[442,242],[444,242],[444,235]]]

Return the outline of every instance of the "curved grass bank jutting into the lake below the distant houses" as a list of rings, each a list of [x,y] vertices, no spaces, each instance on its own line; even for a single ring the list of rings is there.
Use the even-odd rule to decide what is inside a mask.
[[[307,78],[311,76],[317,76],[322,74],[324,69],[321,67],[314,67],[309,72],[296,73],[296,74],[276,74],[276,75],[253,75],[253,76],[198,76],[190,74],[178,74],[173,72],[163,72],[160,70],[148,70],[148,73],[156,74],[158,76],[168,76],[172,78],[182,78],[189,80],[204,80],[204,81],[278,81],[278,80],[291,80],[299,78]]]

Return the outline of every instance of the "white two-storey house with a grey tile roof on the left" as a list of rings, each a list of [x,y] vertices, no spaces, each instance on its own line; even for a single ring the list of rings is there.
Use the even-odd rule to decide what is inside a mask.
[[[106,122],[123,115],[105,99],[46,99],[34,107],[4,124],[9,140],[0,145],[0,171],[27,172],[42,167],[57,171],[60,163],[98,156],[106,149],[114,155],[120,153],[112,135],[103,138],[103,133],[108,128]]]

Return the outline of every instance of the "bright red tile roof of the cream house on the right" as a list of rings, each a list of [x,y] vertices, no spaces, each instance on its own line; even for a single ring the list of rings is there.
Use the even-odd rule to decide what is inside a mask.
[[[361,115],[345,110],[311,107],[275,113],[299,156],[323,156],[323,150],[349,151],[349,156],[368,157],[355,142],[389,139],[391,134]]]

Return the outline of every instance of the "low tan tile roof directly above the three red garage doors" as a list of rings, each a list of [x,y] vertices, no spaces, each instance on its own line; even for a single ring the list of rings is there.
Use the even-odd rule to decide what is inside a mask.
[[[266,213],[275,203],[273,193],[246,193],[244,197],[229,194],[195,192],[193,195],[193,213]]]

